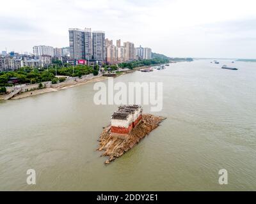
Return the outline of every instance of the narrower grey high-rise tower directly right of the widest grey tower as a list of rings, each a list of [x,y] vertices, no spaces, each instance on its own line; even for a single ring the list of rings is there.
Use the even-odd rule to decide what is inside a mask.
[[[102,64],[104,61],[106,61],[105,33],[103,31],[93,31],[92,45],[93,60]]]

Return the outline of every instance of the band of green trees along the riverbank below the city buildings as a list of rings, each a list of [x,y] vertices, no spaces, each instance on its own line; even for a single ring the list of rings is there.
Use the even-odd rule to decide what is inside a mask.
[[[105,71],[113,71],[118,68],[129,68],[133,69],[140,66],[150,66],[152,64],[163,64],[168,62],[167,59],[145,59],[140,61],[131,61],[131,62],[123,62],[120,64],[103,64],[102,68]],[[71,64],[62,64],[61,61],[54,61],[51,66],[48,68],[31,68],[31,67],[23,67],[15,71],[2,71],[0,72],[0,87],[10,86],[8,81],[10,78],[15,77],[19,78],[20,84],[36,84],[41,82],[49,82],[52,84],[56,84],[58,82],[62,82],[65,78],[57,78],[56,75],[62,75],[67,77],[82,77],[83,75],[98,75],[100,66],[98,64],[88,66],[88,65],[77,65],[73,66]]]

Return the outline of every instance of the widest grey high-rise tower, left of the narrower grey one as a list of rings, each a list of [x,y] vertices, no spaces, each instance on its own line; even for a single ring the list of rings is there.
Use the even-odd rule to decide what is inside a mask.
[[[69,47],[71,59],[92,59],[91,29],[69,29]]]

